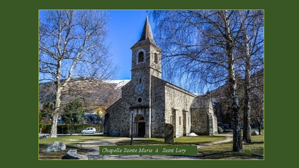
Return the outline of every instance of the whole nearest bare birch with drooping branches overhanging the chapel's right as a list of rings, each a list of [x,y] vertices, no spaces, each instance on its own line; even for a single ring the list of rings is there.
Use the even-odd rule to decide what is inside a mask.
[[[235,54],[245,20],[240,19],[239,11],[226,10],[154,11],[153,16],[158,23],[159,36],[156,39],[164,49],[165,67],[175,67],[166,70],[164,75],[191,81],[185,85],[201,90],[227,83],[231,99],[233,151],[243,151],[236,79],[241,69]]]

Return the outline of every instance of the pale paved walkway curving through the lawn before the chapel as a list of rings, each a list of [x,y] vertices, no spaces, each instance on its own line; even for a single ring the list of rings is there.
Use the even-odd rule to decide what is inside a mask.
[[[216,134],[216,136],[226,136],[225,140],[197,144],[197,149],[203,146],[214,145],[219,143],[225,143],[232,141],[232,134]],[[146,139],[146,138],[139,138]],[[116,145],[116,142],[131,140],[131,138],[115,138],[115,139],[99,139],[93,141],[85,141],[79,143],[79,147],[93,150],[94,152],[88,152],[85,155],[88,159],[200,159],[201,153],[197,155],[99,155],[100,145]]]

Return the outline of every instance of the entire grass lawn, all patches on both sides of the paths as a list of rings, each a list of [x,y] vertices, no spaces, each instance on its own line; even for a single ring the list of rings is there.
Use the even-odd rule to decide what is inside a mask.
[[[257,130],[251,130],[257,131]],[[57,138],[43,138],[39,140],[39,159],[61,159],[62,156],[66,155],[69,149],[77,149],[77,153],[83,154],[92,152],[93,150],[82,149],[77,143],[89,140],[97,139],[111,139],[120,137],[106,137],[102,135],[86,135],[86,136],[59,136]],[[197,137],[180,137],[174,138],[174,143],[170,145],[198,145],[208,142],[216,142],[224,140],[225,136],[197,136]],[[244,152],[233,152],[232,142],[204,146],[199,148],[197,151],[200,154],[200,159],[263,159],[264,152],[264,140],[263,130],[262,135],[251,136],[252,144],[243,144]],[[66,144],[65,151],[59,152],[48,152],[43,153],[42,151],[54,141],[61,141]],[[117,142],[116,145],[129,145],[130,141]],[[164,138],[147,138],[138,139],[134,138],[135,145],[165,145]]]

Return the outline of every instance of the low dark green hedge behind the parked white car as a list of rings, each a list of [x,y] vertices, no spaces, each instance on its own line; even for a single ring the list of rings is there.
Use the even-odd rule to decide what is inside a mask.
[[[104,125],[97,124],[57,124],[57,133],[71,133],[72,128],[74,129],[73,133],[80,133],[81,130],[94,127],[97,130],[97,133],[102,133],[104,130]],[[41,133],[50,133],[51,124],[39,124],[39,132],[41,128]]]

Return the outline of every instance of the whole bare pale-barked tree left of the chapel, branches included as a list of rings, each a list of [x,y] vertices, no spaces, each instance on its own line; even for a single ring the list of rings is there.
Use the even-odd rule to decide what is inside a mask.
[[[64,104],[64,95],[72,91],[78,81],[103,80],[112,77],[116,67],[109,61],[107,12],[105,11],[40,11],[39,20],[39,76],[49,82],[54,104],[51,113],[50,137],[57,137],[57,118]],[[88,86],[88,89],[91,87]],[[77,95],[77,96],[74,96]],[[71,101],[72,101],[71,100]]]

